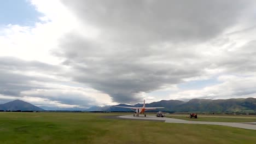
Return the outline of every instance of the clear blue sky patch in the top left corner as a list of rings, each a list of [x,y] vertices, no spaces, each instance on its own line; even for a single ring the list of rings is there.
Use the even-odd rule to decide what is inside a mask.
[[[0,25],[34,26],[43,16],[26,0],[0,1]]]

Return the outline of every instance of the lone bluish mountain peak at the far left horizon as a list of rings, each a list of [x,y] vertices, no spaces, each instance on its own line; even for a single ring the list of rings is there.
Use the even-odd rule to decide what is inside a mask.
[[[0,105],[0,110],[10,110],[10,111],[17,111],[17,110],[21,110],[21,111],[44,111],[43,109],[41,109],[40,107],[34,106],[30,103],[27,103],[25,101],[22,100],[14,100],[14,101],[10,101],[8,103],[5,104],[1,104]]]

